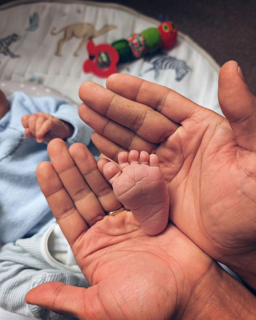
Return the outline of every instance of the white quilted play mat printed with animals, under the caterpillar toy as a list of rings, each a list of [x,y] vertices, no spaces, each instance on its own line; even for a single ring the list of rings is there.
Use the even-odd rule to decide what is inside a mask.
[[[159,24],[117,4],[20,0],[0,6],[0,28],[4,30],[0,81],[38,82],[79,104],[81,83],[91,80],[104,86],[106,81],[83,71],[88,39],[96,45],[111,44]],[[165,85],[221,113],[218,71],[215,61],[180,32],[171,50],[118,66],[118,72]]]

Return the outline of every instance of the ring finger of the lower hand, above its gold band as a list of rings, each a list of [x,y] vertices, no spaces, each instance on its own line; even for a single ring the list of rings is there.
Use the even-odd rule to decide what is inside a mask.
[[[116,199],[112,188],[100,173],[97,162],[88,148],[82,143],[75,143],[69,148],[69,152],[103,210],[110,212],[119,209],[122,204]]]

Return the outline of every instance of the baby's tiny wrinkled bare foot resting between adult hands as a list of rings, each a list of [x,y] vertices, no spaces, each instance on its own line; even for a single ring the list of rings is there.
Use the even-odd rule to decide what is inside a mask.
[[[169,195],[155,154],[132,150],[118,155],[120,169],[113,162],[103,167],[116,198],[129,207],[148,235],[162,232],[169,218]]]

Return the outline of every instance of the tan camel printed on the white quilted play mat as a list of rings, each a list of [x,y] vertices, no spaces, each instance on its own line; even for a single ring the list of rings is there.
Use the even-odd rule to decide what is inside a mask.
[[[79,46],[77,47],[76,51],[73,54],[75,57],[78,57],[78,52],[80,51],[80,49],[82,47],[85,48],[88,40],[102,36],[105,33],[107,33],[108,31],[114,30],[116,28],[117,27],[115,25],[106,24],[100,30],[95,30],[94,26],[89,23],[72,24],[72,25],[69,25],[67,27],[60,29],[59,31],[55,31],[56,28],[53,28],[51,31],[52,36],[56,36],[59,33],[64,32],[63,37],[58,41],[55,55],[57,57],[61,57],[61,50],[62,50],[63,44],[65,44],[67,41],[69,41],[73,37],[75,37],[77,39],[82,39],[82,41],[80,42]]]

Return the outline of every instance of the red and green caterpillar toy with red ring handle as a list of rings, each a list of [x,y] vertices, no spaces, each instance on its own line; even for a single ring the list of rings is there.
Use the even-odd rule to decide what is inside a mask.
[[[111,45],[87,43],[89,59],[84,62],[84,72],[108,77],[117,72],[118,62],[138,59],[159,48],[170,49],[176,42],[177,28],[171,21],[164,21],[158,28],[148,28],[134,33],[127,39],[114,41]]]

